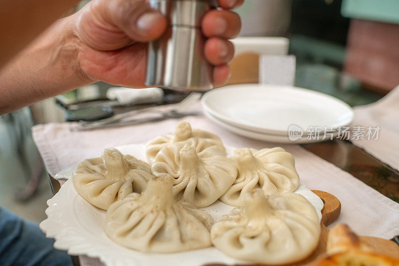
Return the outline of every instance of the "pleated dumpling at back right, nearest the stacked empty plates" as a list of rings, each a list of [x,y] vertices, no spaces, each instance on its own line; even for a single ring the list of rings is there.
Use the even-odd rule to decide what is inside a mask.
[[[253,153],[252,153],[253,151]],[[234,151],[238,177],[220,200],[228,205],[242,206],[245,193],[261,188],[266,195],[293,192],[299,186],[292,154],[283,148],[237,149]]]

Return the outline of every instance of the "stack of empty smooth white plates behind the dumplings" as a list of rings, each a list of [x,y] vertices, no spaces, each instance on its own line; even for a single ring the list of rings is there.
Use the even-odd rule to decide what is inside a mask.
[[[354,113],[345,102],[317,91],[260,84],[212,90],[204,113],[238,135],[277,143],[330,140],[349,130]]]

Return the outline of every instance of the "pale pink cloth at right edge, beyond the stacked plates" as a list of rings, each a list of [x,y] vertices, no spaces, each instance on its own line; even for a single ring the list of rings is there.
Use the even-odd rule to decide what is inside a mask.
[[[352,142],[358,147],[363,148],[368,153],[378,158],[382,162],[399,170],[399,86],[391,91],[381,100],[354,108],[355,120],[352,129],[360,126],[364,139],[353,139]],[[371,127],[372,133],[379,136],[367,136],[368,128]],[[359,129],[359,128],[358,128]]]

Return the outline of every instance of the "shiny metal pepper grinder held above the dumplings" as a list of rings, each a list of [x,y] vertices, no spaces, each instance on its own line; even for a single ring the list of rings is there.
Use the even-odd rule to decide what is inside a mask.
[[[168,19],[168,28],[149,43],[146,85],[173,90],[213,88],[212,66],[204,56],[201,31],[204,14],[217,0],[149,0]]]

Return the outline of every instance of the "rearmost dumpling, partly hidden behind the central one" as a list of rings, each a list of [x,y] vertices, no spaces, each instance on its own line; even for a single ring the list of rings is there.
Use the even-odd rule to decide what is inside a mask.
[[[158,152],[171,143],[184,142],[190,143],[196,147],[197,152],[203,151],[205,148],[215,146],[213,153],[219,155],[226,155],[226,149],[218,136],[200,129],[192,129],[190,123],[182,122],[177,125],[175,133],[166,136],[160,136],[147,143],[147,158],[150,163],[153,163]],[[209,154],[215,155],[215,154]]]

